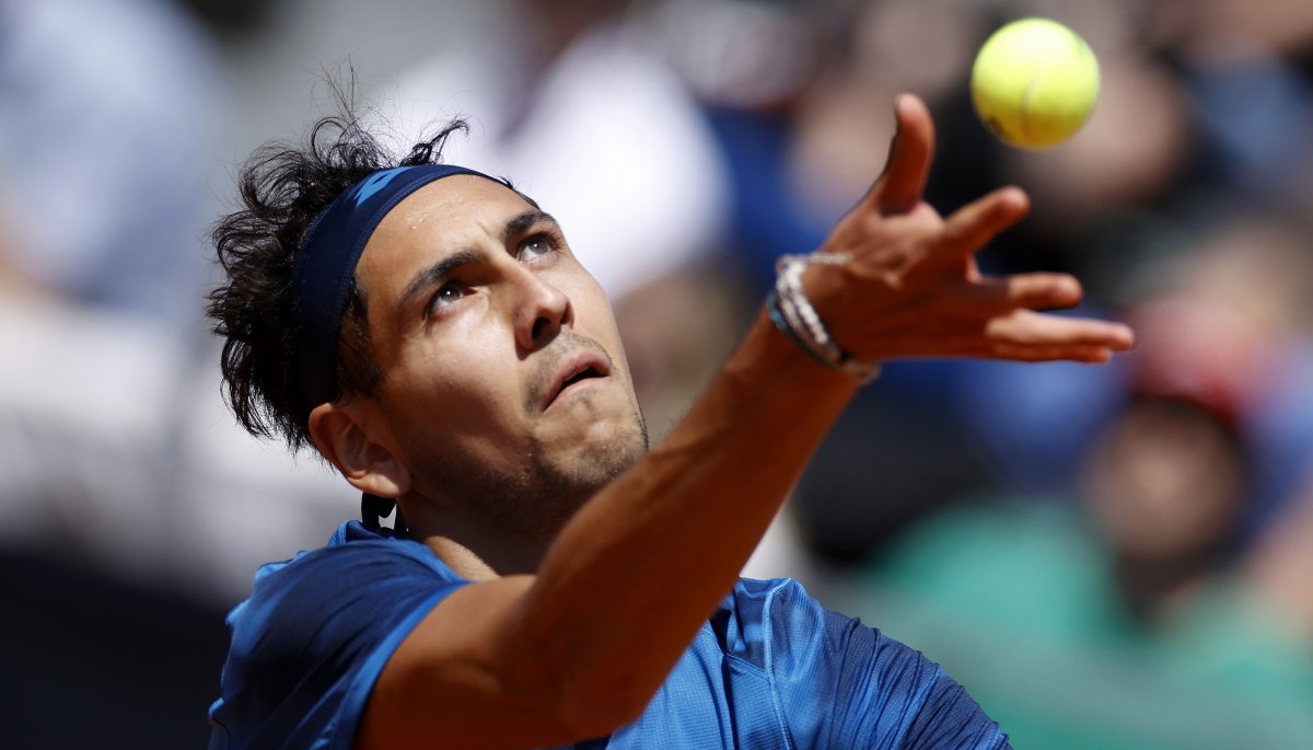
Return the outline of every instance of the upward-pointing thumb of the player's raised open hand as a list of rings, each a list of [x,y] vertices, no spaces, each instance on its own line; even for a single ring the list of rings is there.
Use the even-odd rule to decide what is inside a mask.
[[[907,213],[920,204],[935,152],[935,123],[920,97],[903,93],[894,100],[898,130],[889,144],[885,171],[871,189],[881,214]]]

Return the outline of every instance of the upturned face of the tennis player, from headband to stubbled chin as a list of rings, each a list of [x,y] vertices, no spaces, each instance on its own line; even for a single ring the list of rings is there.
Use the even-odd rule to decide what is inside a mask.
[[[368,407],[412,493],[532,529],[646,451],[605,294],[513,190],[425,185],[378,225],[357,276],[383,372]]]

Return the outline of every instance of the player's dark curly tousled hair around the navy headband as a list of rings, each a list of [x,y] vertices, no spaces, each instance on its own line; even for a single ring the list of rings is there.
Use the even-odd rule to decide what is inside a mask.
[[[352,112],[349,97],[339,92],[337,99],[341,113],[319,120],[306,147],[269,143],[256,150],[238,177],[244,208],[219,219],[213,232],[227,280],[209,294],[206,313],[225,339],[225,399],[248,432],[281,436],[293,451],[311,441],[309,419],[316,406],[291,365],[298,334],[291,265],[310,225],[378,169],[440,162],[446,139],[466,130],[463,121],[452,121],[398,162]],[[337,344],[339,397],[369,395],[382,378],[369,349],[368,309],[352,278]]]

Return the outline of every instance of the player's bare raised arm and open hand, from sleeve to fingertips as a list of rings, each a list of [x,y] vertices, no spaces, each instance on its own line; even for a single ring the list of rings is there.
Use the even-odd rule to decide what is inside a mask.
[[[1120,324],[1036,313],[1078,302],[1061,275],[986,280],[973,254],[1027,210],[1019,189],[947,219],[922,201],[934,130],[895,105],[885,173],[810,264],[802,289],[859,359],[1103,361]],[[562,531],[534,577],[467,586],[399,646],[361,747],[523,747],[637,717],[733,586],[790,486],[855,393],[763,311],[687,418]]]

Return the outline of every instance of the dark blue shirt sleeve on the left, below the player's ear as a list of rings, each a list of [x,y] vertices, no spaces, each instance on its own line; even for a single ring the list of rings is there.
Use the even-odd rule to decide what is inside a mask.
[[[210,750],[348,750],[383,665],[463,583],[383,541],[265,566],[228,616]]]

